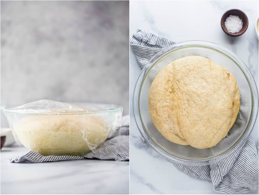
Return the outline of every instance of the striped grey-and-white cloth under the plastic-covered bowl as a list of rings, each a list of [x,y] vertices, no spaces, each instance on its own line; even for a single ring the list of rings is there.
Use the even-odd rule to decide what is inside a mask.
[[[81,159],[128,161],[130,159],[129,132],[129,116],[127,115],[122,117],[119,129],[111,134],[102,145],[87,154],[80,156],[43,156],[37,152],[30,151],[9,159],[9,162],[30,161],[40,163]]]

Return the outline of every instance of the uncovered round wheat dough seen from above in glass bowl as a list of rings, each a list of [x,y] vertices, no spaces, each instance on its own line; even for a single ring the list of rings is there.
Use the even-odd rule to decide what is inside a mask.
[[[195,148],[215,146],[234,124],[240,92],[233,74],[201,56],[164,67],[149,90],[150,117],[168,140]]]

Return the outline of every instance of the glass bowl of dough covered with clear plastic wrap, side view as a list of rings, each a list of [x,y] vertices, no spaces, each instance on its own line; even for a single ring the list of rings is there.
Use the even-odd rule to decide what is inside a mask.
[[[120,124],[123,108],[86,107],[40,100],[3,108],[16,141],[42,155],[81,155],[93,151]]]

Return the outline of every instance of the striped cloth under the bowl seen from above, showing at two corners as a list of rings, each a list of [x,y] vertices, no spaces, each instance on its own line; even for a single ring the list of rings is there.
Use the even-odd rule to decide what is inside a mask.
[[[140,29],[130,40],[131,48],[142,68],[157,52],[174,43]],[[256,149],[253,139],[249,137],[244,145],[231,150],[235,151],[232,155],[210,165],[187,166],[172,163],[192,177],[212,181],[216,192],[246,193],[258,190],[258,148]]]

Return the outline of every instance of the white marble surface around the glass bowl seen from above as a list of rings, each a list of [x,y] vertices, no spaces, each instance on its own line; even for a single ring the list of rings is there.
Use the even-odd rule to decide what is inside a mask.
[[[222,14],[234,8],[243,10],[249,20],[247,31],[235,38],[226,35],[220,26]],[[130,38],[137,29],[145,29],[175,42],[217,43],[232,50],[247,64],[258,86],[258,40],[254,33],[257,15],[258,1],[130,1]],[[133,113],[133,89],[140,71],[131,50],[130,113]],[[258,142],[258,120],[252,137]],[[130,193],[216,194],[211,182],[184,174],[142,143],[133,114],[130,118]]]

